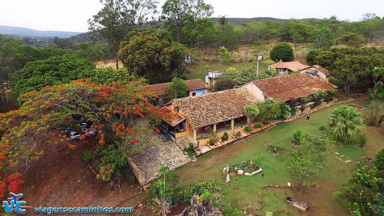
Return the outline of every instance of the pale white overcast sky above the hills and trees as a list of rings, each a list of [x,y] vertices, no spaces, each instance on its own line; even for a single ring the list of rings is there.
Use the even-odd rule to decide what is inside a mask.
[[[160,0],[159,10],[166,0]],[[329,18],[358,21],[364,13],[384,17],[384,0],[205,0],[214,17]],[[1,0],[0,25],[86,32],[87,20],[101,9],[99,0]]]

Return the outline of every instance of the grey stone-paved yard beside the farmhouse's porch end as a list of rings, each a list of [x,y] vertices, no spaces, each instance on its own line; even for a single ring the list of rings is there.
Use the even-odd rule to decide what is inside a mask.
[[[142,185],[156,179],[162,164],[169,164],[170,169],[176,169],[192,161],[173,141],[167,142],[155,131],[151,134],[152,136],[146,137],[148,144],[142,147],[143,151],[127,154],[134,174]]]

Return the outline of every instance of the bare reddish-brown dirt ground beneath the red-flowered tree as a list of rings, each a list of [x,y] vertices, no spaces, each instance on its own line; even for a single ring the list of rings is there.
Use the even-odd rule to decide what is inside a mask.
[[[78,141],[76,145],[76,150],[69,152],[58,150],[64,144],[53,145],[45,149],[39,161],[31,163],[31,167],[24,174],[25,183],[22,189],[23,198],[28,206],[109,208],[137,207],[139,203],[147,203],[147,194],[137,183],[122,184],[120,193],[118,188],[111,191],[108,183],[96,179],[95,174],[81,159],[83,151],[96,145],[96,141]],[[34,211],[28,210],[26,215],[36,215]]]

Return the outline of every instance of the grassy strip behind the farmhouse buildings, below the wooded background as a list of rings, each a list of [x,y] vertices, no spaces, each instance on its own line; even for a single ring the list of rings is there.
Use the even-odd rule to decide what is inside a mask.
[[[247,62],[247,66],[245,66],[244,63],[231,63],[230,65],[220,65],[219,62],[212,61],[210,64],[208,64],[209,69],[207,70],[205,69],[205,65],[207,64],[207,62],[202,61],[200,63],[197,63],[197,65],[189,66],[188,70],[190,70],[190,73],[185,73],[184,75],[187,77],[188,80],[202,79],[205,81],[205,75],[208,75],[209,70],[225,71],[229,67],[234,67],[237,70],[248,70],[249,68],[252,68],[252,70],[256,71],[257,68],[257,62]],[[272,60],[261,60],[259,62],[259,71],[267,71],[268,65],[271,64],[273,64]]]

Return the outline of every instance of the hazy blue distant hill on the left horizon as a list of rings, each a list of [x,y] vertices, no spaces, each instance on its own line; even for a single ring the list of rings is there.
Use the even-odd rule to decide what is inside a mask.
[[[30,28],[0,25],[0,33],[8,34],[8,35],[31,36],[31,37],[69,38],[71,36],[78,35],[81,32],[39,31],[39,30],[30,29]]]

